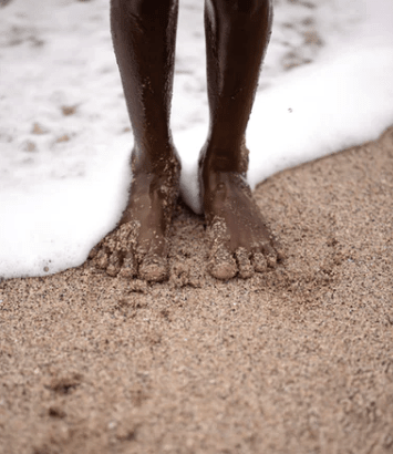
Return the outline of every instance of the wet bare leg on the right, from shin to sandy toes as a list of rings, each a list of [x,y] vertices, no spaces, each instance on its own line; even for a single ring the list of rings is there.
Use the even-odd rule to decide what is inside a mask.
[[[277,260],[246,183],[245,143],[271,18],[270,0],[206,0],[210,126],[199,165],[213,240],[209,270],[219,279],[247,278]]]

